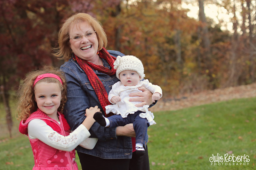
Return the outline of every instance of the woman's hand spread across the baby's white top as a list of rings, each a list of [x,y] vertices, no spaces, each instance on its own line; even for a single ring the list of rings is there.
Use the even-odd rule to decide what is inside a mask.
[[[134,92],[129,94],[130,97],[134,97],[129,99],[129,101],[141,101],[141,103],[135,105],[136,107],[151,105],[153,94],[145,87],[139,87],[138,89],[141,90],[142,92]]]

